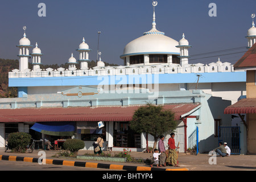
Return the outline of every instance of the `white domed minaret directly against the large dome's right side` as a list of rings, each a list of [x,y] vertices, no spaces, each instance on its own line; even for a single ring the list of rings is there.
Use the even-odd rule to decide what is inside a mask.
[[[182,35],[182,39],[180,39],[179,46],[176,46],[177,48],[180,48],[180,65],[183,67],[184,65],[188,64],[188,48],[192,47],[189,46],[188,40],[185,39],[185,35]]]

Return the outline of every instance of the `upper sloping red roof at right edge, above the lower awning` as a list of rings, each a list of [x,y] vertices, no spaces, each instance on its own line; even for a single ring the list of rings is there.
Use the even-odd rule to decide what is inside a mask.
[[[234,64],[234,68],[256,67],[256,44],[254,44],[240,60]]]

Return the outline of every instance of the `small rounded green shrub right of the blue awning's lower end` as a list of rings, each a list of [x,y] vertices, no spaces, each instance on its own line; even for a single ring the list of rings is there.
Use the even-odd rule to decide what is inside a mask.
[[[67,139],[63,143],[63,147],[65,150],[69,150],[76,155],[80,149],[84,148],[84,146],[84,141],[79,139]]]

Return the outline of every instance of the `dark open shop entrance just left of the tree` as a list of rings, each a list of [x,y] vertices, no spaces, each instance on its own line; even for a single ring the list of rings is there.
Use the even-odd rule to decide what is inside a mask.
[[[131,130],[129,122],[114,122],[114,147],[141,148],[141,134]]]

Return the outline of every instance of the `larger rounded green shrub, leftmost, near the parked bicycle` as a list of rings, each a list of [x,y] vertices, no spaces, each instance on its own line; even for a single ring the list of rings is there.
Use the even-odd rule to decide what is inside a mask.
[[[30,144],[31,135],[23,132],[11,133],[8,137],[8,144],[14,152],[25,152]]]

